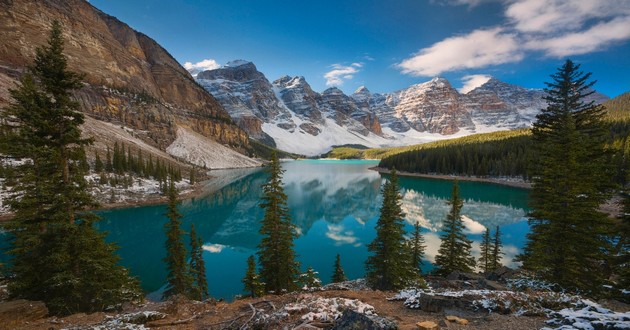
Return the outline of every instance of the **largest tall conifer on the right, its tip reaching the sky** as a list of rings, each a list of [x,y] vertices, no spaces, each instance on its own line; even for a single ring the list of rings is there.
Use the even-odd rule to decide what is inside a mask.
[[[599,206],[611,194],[605,109],[587,101],[591,74],[567,60],[547,82],[547,108],[532,127],[531,231],[523,267],[567,289],[597,291],[611,221]]]

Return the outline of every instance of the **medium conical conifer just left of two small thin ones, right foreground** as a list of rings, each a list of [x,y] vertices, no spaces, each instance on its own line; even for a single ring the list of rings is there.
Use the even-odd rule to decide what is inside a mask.
[[[475,259],[470,255],[472,242],[464,235],[461,209],[464,202],[459,197],[459,184],[453,182],[453,192],[448,202],[451,211],[444,221],[444,233],[440,237],[442,243],[435,257],[436,273],[446,276],[454,271],[472,272]]]

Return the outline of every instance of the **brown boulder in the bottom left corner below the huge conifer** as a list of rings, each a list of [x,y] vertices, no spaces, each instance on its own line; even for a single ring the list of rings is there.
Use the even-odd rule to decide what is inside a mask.
[[[48,316],[48,308],[41,301],[12,300],[0,303],[0,324],[6,329],[16,328]]]

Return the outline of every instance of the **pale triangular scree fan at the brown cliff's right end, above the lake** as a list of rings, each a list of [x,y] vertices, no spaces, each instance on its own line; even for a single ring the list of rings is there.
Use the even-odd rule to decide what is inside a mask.
[[[166,152],[207,169],[257,167],[262,164],[181,126],[177,128],[177,139],[166,148]]]

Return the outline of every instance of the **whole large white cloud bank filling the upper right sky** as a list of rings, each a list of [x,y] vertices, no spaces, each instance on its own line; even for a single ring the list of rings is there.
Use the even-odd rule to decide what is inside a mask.
[[[489,0],[490,1],[490,0]],[[485,0],[434,0],[476,6]],[[404,74],[435,76],[518,62],[532,52],[566,57],[630,39],[628,0],[504,0],[500,26],[439,41],[398,63]]]

